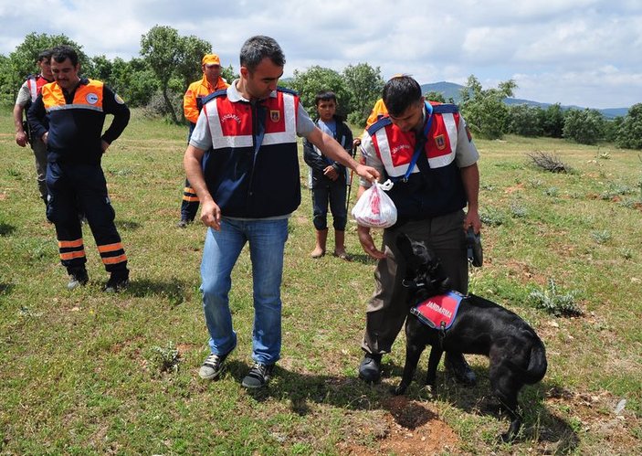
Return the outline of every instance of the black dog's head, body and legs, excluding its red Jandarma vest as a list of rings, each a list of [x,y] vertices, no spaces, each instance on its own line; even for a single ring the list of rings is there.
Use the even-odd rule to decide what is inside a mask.
[[[439,262],[423,242],[400,235],[396,246],[405,258],[404,285],[410,288],[409,304],[448,292],[448,279]],[[405,367],[395,394],[404,394],[415,375],[426,345],[431,345],[426,385],[435,387],[437,365],[446,352],[489,356],[490,386],[510,415],[510,428],[501,435],[512,440],[521,429],[517,396],[525,384],[542,380],[546,373],[546,351],[535,331],[517,314],[495,302],[469,294],[459,304],[457,319],[446,331],[430,328],[414,314],[405,321]]]

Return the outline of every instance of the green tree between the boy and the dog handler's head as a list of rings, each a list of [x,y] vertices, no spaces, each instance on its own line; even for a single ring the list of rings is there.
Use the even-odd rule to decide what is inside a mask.
[[[350,92],[351,106],[348,122],[364,125],[374,102],[381,98],[385,81],[379,67],[373,68],[367,63],[348,65],[343,69],[345,85]]]

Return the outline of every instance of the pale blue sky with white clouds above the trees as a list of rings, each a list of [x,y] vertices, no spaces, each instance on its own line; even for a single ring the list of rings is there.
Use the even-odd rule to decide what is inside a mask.
[[[27,9],[42,12],[41,24]],[[475,75],[484,89],[514,80],[515,98],[531,101],[642,102],[640,0],[0,0],[0,54],[37,32],[129,60],[156,25],[205,39],[236,71],[243,42],[267,35],[283,48],[284,77],[368,63],[384,80],[463,85]]]

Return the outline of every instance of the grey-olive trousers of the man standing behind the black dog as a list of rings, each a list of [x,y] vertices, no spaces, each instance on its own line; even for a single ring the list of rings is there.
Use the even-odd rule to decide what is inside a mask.
[[[405,233],[413,240],[423,240],[435,250],[453,290],[468,292],[468,259],[464,211],[445,216],[409,221],[399,228],[384,230],[382,251],[386,258],[379,260],[374,270],[374,294],[366,309],[365,334],[362,348],[371,354],[390,353],[395,338],[408,314],[407,289],[401,281],[405,276],[405,261],[396,249],[395,239]]]

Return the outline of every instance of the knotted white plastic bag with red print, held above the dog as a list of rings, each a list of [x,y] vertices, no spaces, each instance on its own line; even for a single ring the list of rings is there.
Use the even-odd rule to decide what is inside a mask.
[[[378,182],[363,192],[353,207],[353,217],[362,227],[389,228],[396,223],[396,207],[385,192],[393,187],[388,179]]]

